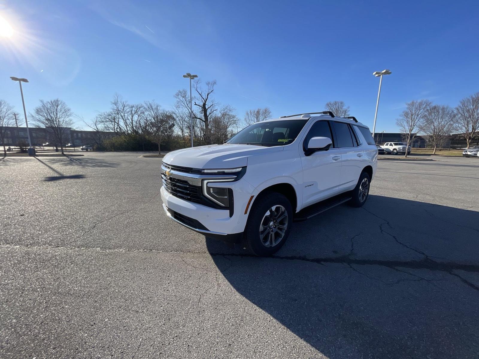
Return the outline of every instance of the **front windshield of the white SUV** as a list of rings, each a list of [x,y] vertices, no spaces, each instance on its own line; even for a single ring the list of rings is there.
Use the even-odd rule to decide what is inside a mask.
[[[292,143],[308,119],[279,120],[253,123],[231,137],[226,143],[257,146],[284,146]]]

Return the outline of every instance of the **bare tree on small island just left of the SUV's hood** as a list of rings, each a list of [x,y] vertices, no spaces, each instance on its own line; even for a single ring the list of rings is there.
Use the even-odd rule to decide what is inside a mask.
[[[160,146],[164,136],[171,134],[174,116],[170,111],[163,110],[155,101],[145,102],[145,117],[148,123],[148,138],[158,144],[158,154],[161,154]]]

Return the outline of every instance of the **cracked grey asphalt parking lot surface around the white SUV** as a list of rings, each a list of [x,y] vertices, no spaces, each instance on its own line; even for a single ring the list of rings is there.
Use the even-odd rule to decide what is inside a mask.
[[[166,218],[160,159],[0,159],[0,358],[478,358],[479,159],[379,161],[274,258]]]

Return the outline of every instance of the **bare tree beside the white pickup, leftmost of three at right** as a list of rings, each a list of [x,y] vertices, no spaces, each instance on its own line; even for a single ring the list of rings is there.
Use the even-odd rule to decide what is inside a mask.
[[[429,107],[431,107],[431,101],[429,100],[408,102],[406,103],[406,110],[401,112],[400,117],[396,120],[396,125],[404,134],[408,148],[414,137],[422,130],[422,121]],[[408,157],[407,150],[404,157]]]

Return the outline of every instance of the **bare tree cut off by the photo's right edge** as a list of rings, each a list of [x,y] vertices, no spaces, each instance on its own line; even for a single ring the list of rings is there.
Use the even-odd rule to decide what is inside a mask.
[[[469,148],[479,133],[479,92],[459,101],[456,107],[456,126],[466,138]]]

